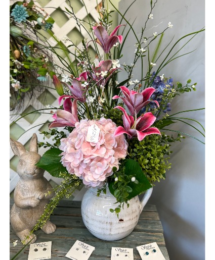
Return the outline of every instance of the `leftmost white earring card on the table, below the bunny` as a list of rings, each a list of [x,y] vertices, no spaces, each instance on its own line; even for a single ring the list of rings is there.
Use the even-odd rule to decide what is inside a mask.
[[[28,260],[51,258],[52,241],[30,244]]]

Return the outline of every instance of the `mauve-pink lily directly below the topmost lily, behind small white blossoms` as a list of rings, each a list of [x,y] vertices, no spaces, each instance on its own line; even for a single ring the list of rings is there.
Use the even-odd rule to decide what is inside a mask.
[[[117,70],[118,68],[111,69],[112,68],[112,61],[111,60],[106,60],[106,61],[101,61],[97,67],[92,66],[92,70],[94,73],[92,74],[93,79],[97,81],[98,86],[99,85],[104,85],[107,83],[108,79],[110,78],[111,74]],[[105,77],[102,76],[102,72],[106,72],[107,75]]]

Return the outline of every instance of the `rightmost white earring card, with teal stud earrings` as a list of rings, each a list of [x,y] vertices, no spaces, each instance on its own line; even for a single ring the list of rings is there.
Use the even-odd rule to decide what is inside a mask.
[[[150,243],[136,247],[143,260],[165,260],[157,243]]]

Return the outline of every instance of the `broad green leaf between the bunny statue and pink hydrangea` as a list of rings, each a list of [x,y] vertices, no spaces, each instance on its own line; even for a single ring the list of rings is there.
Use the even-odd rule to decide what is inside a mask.
[[[39,162],[35,165],[46,170],[52,176],[61,178],[60,173],[68,173],[60,162],[61,157],[59,155],[61,152],[58,148],[51,148],[42,155]]]

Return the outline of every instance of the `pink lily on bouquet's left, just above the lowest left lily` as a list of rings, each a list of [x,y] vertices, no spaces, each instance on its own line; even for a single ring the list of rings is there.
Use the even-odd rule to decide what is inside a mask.
[[[58,99],[59,104],[61,103],[61,100],[64,97],[77,98],[78,101],[84,103],[86,101],[87,85],[82,84],[82,82],[85,82],[87,79],[88,79],[87,72],[82,72],[78,78],[73,78],[71,86],[69,86],[65,82],[62,82],[72,92],[72,96],[70,96],[70,95],[60,96]]]

